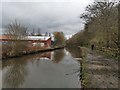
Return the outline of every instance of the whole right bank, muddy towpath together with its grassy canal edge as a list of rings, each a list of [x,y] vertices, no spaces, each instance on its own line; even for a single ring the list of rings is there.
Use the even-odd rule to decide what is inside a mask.
[[[80,60],[82,88],[117,88],[118,62],[96,50],[81,49],[83,50],[83,59]]]

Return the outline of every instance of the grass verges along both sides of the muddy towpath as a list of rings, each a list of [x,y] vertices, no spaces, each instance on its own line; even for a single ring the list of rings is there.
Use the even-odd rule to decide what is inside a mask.
[[[82,88],[88,88],[91,85],[90,79],[91,79],[91,75],[92,75],[92,73],[90,71],[88,71],[89,62],[87,62],[87,54],[88,54],[88,51],[90,51],[90,48],[86,48],[86,47],[80,47],[80,48],[82,50],[82,56],[83,56],[82,60],[80,61],[81,67],[82,67],[82,72],[80,72],[81,73],[81,86],[82,86]],[[111,55],[114,52],[100,51],[98,49],[94,49],[92,52],[95,54],[101,54],[101,55],[105,56],[106,58],[113,58],[114,60],[116,60],[116,57]],[[97,72],[98,72],[98,74],[103,73],[101,71],[97,71]]]

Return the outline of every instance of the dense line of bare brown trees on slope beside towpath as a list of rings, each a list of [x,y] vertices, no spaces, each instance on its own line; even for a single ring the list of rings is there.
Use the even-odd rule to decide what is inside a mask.
[[[113,49],[118,53],[120,48],[118,33],[118,9],[120,3],[109,0],[95,0],[80,15],[84,21],[84,30],[76,33],[67,41],[70,44],[90,46],[98,49]]]

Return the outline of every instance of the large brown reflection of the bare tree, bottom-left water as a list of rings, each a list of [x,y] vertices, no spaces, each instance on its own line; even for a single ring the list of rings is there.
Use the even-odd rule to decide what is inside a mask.
[[[12,65],[9,65],[8,63]],[[10,68],[8,68],[3,75],[3,87],[19,88],[24,83],[25,76],[27,75],[25,67],[26,60],[9,60],[8,62],[5,62],[5,65],[8,65]]]

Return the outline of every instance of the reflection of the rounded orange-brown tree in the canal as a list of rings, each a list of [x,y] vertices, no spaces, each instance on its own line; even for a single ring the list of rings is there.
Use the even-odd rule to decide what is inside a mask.
[[[54,51],[53,62],[59,63],[64,58],[64,56],[65,56],[64,49],[59,49],[59,50]]]

